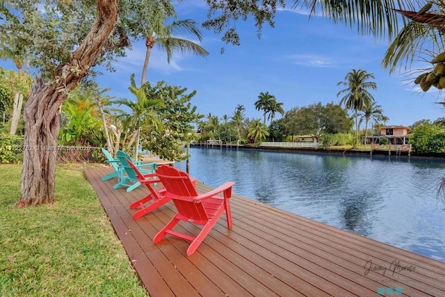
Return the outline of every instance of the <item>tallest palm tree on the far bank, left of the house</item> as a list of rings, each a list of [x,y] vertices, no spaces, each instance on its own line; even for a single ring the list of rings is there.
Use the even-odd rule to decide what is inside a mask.
[[[363,111],[374,102],[374,97],[369,93],[368,89],[377,89],[377,84],[369,79],[374,79],[374,74],[366,72],[366,70],[351,70],[346,74],[345,81],[340,81],[337,86],[347,86],[347,88],[337,93],[337,97],[341,97],[340,104],[344,104],[346,109],[354,111],[355,115],[355,145],[357,148],[359,139],[358,112]]]

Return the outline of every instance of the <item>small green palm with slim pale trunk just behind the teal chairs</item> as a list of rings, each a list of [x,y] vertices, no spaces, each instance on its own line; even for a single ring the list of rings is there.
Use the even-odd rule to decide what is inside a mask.
[[[131,76],[131,86],[129,86],[129,90],[135,95],[136,101],[121,98],[115,100],[113,103],[119,105],[123,104],[131,109],[131,115],[125,112],[123,114],[125,118],[130,119],[131,128],[136,131],[131,138],[130,144],[133,143],[133,141],[136,141],[134,158],[137,160],[140,131],[148,125],[154,125],[156,128],[161,126],[161,122],[159,122],[157,117],[156,108],[159,109],[159,107],[163,106],[163,102],[159,99],[148,99],[147,95],[145,95],[144,88],[136,88],[134,75]]]

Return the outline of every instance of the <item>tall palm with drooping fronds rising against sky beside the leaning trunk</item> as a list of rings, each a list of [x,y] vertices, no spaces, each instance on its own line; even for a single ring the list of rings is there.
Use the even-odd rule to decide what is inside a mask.
[[[199,56],[207,56],[209,54],[208,51],[195,42],[173,36],[174,33],[191,33],[202,42],[202,34],[200,29],[198,29],[199,26],[197,22],[193,21],[193,19],[183,19],[164,26],[164,22],[167,19],[171,17],[176,18],[177,15],[174,8],[170,6],[170,3],[162,3],[159,5],[160,7],[153,10],[153,16],[149,19],[147,29],[145,29],[145,45],[147,51],[145,52],[142,77],[140,79],[141,86],[145,83],[150,54],[155,44],[158,45],[159,49],[165,51],[168,63],[170,63],[173,51],[181,51],[182,54],[197,54]],[[168,5],[168,7],[165,5]]]

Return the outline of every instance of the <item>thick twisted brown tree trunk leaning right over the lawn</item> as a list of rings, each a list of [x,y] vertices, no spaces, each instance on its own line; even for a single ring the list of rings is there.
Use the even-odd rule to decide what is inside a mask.
[[[58,66],[57,77],[51,83],[42,77],[35,81],[24,110],[22,195],[18,207],[54,202],[60,106],[107,49],[124,46],[108,41],[118,19],[118,3],[119,0],[97,0],[97,18],[70,61]],[[81,71],[72,72],[73,67]]]

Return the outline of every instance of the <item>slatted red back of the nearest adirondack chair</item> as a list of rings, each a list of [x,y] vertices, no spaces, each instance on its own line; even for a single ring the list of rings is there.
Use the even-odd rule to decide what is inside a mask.
[[[163,165],[156,168],[156,175],[167,191],[165,195],[172,198],[179,214],[190,220],[209,220],[204,205],[194,200],[199,193],[186,172]]]

